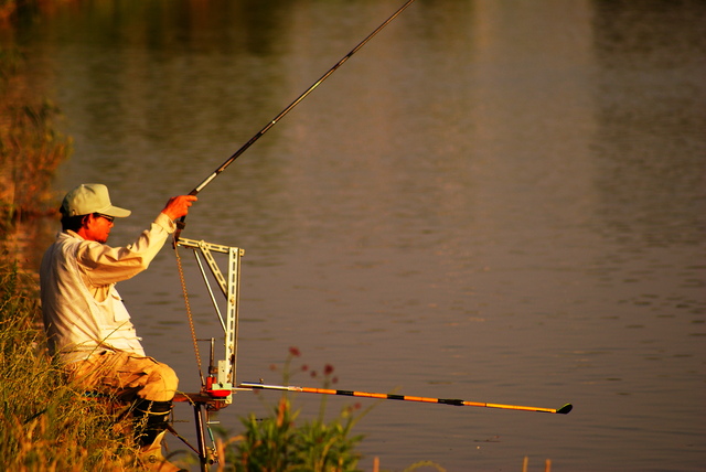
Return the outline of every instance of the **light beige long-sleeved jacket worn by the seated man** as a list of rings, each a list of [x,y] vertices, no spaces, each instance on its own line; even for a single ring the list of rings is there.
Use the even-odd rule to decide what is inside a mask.
[[[42,314],[51,354],[63,362],[106,350],[145,355],[115,283],[147,269],[175,229],[163,213],[137,240],[110,247],[63,232],[44,254],[40,269]]]

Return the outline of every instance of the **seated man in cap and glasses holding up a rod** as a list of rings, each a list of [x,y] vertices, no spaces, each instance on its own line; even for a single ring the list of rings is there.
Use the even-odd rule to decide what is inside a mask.
[[[171,367],[146,356],[115,285],[148,268],[176,229],[174,221],[196,200],[170,199],[132,244],[110,247],[114,219],[131,212],[114,206],[103,184],[78,185],[62,202],[62,232],[40,269],[50,353],[82,388],[132,404],[141,461],[152,470],[180,470],[161,454],[179,379]]]

